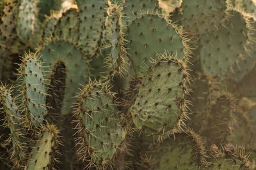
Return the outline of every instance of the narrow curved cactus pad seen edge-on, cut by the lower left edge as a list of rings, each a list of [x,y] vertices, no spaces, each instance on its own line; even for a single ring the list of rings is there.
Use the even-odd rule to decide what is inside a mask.
[[[25,158],[24,129],[22,127],[22,118],[18,106],[15,104],[15,98],[12,96],[12,89],[5,86],[0,87],[0,102],[3,104],[4,113],[6,113],[6,124],[11,132],[10,139],[12,141],[12,153],[10,159],[15,166],[21,166],[22,160]]]

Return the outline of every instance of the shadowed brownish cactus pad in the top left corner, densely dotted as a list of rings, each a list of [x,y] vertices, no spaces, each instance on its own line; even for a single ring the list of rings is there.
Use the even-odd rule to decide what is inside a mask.
[[[26,45],[21,43],[17,32],[17,11],[19,3],[17,1],[1,1],[3,5],[0,12],[0,80],[10,81],[13,76],[13,59],[17,53],[21,53]]]

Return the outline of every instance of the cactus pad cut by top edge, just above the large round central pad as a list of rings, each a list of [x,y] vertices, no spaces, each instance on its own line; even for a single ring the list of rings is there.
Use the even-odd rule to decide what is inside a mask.
[[[130,25],[132,18],[138,18],[145,13],[156,13],[157,10],[159,10],[157,0],[125,0],[124,24]]]

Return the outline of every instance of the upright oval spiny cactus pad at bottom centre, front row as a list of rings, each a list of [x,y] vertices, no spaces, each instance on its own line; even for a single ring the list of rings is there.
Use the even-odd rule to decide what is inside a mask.
[[[111,166],[126,135],[114,96],[106,85],[90,82],[77,97],[77,154],[88,161],[88,167]]]

